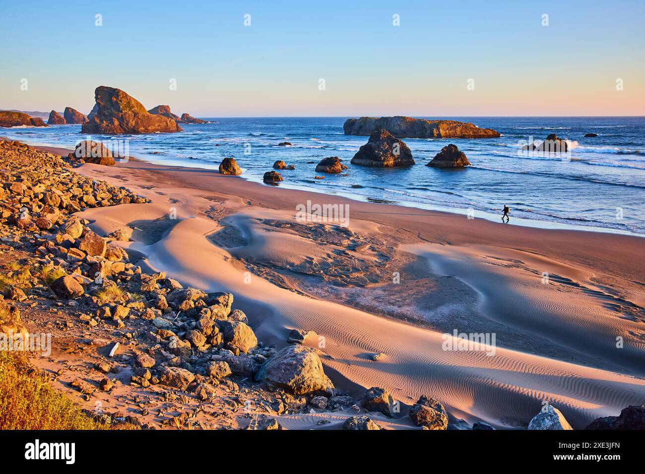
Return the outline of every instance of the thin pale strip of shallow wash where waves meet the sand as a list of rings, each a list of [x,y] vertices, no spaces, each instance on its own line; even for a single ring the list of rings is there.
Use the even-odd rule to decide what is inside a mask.
[[[8,139],[8,137],[4,137],[5,139]],[[35,148],[40,148],[43,150],[50,150],[52,152],[58,153],[61,150],[64,150],[64,152],[69,153],[74,151],[74,147],[72,146],[71,148],[66,148],[64,146],[56,146],[55,144],[49,144],[49,143],[40,143],[40,142],[30,142],[26,140],[21,140],[23,143],[29,144],[30,146],[34,146]],[[168,163],[160,163],[154,160],[154,157],[149,156],[149,155],[144,155],[142,156],[130,156],[129,159],[135,160],[135,161],[143,161],[144,163],[150,163],[156,166],[167,166],[168,168],[188,168],[190,170],[204,170],[204,171],[215,171],[217,172],[217,167],[213,166],[213,168],[204,168],[203,166],[189,166],[188,164],[168,164]],[[259,179],[251,179],[249,177],[246,177],[244,175],[239,176],[244,181],[248,181],[250,183],[257,183],[257,184],[263,184]],[[317,193],[317,194],[322,194],[322,195],[328,195],[328,196],[339,196],[339,197],[344,197],[346,199],[350,199],[355,202],[376,202],[376,201],[371,201],[370,198],[368,197],[361,197],[359,195],[353,195],[350,192],[334,192],[334,193],[326,193],[322,191],[317,191],[313,188],[310,188],[308,186],[300,186],[298,184],[293,184],[289,182],[282,182],[279,184],[279,187],[284,188],[284,189],[290,189],[290,190],[295,190],[295,191],[302,191],[302,192],[310,192],[310,193]],[[394,205],[394,206],[401,206],[403,208],[412,208],[412,209],[419,209],[419,210],[428,210],[432,212],[441,212],[441,213],[448,213],[448,214],[453,214],[453,215],[459,215],[462,217],[465,217],[468,209],[465,208],[451,208],[450,206],[436,206],[433,204],[424,204],[421,202],[406,202],[406,201],[383,201],[380,202],[381,204],[388,204],[388,205]],[[481,210],[476,210],[475,211],[475,219],[484,219],[489,222],[494,222],[494,223],[499,223],[499,220],[501,219],[501,214],[498,213],[491,213],[491,212],[484,212]],[[513,217],[512,215],[512,210],[511,210],[511,219],[512,219],[512,224],[514,226],[522,226],[522,227],[528,227],[528,228],[537,228],[537,229],[545,229],[545,230],[573,230],[573,231],[580,231],[580,232],[597,232],[597,233],[608,233],[608,234],[613,234],[613,235],[629,235],[631,237],[640,237],[640,238],[645,238],[645,234],[640,234],[636,232],[630,232],[628,230],[620,230],[620,229],[615,229],[615,228],[610,228],[610,227],[595,227],[595,226],[586,226],[586,225],[577,225],[577,224],[567,224],[564,222],[556,222],[556,221],[542,221],[539,219],[525,219],[521,217]]]

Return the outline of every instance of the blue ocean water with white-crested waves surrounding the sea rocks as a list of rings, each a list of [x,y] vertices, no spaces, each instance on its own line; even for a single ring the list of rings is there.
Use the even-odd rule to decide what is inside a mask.
[[[432,117],[423,117],[432,118]],[[446,118],[446,117],[441,117]],[[497,139],[403,139],[416,166],[375,169],[352,166],[350,159],[367,137],[344,135],[345,117],[207,118],[183,125],[181,133],[126,135],[130,154],[160,164],[217,168],[234,157],[243,176],[262,181],[276,160],[294,164],[282,170],[279,186],[303,188],[355,199],[397,202],[421,208],[490,218],[504,204],[513,219],[645,234],[645,117],[450,117],[502,133]],[[80,125],[3,128],[0,135],[55,146],[74,146]],[[520,156],[521,145],[549,133],[571,141],[570,155]],[[597,133],[584,138],[585,133]],[[108,140],[109,136],[94,135]],[[293,146],[278,146],[288,141]],[[441,170],[428,163],[454,143],[472,164]],[[338,156],[350,168],[343,175],[314,179],[315,165]]]

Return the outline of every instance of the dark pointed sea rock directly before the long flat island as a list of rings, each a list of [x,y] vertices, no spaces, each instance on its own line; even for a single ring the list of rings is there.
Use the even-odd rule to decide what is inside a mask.
[[[405,143],[393,137],[387,130],[379,128],[374,130],[368,142],[359,148],[351,163],[377,168],[393,168],[410,166],[414,164],[414,160],[410,148]]]

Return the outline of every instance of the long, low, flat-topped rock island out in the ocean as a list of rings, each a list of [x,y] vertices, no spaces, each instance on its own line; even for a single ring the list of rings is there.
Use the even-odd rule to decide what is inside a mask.
[[[454,120],[426,120],[411,117],[361,117],[347,119],[342,126],[345,135],[369,136],[383,128],[399,138],[497,138],[499,132]]]

